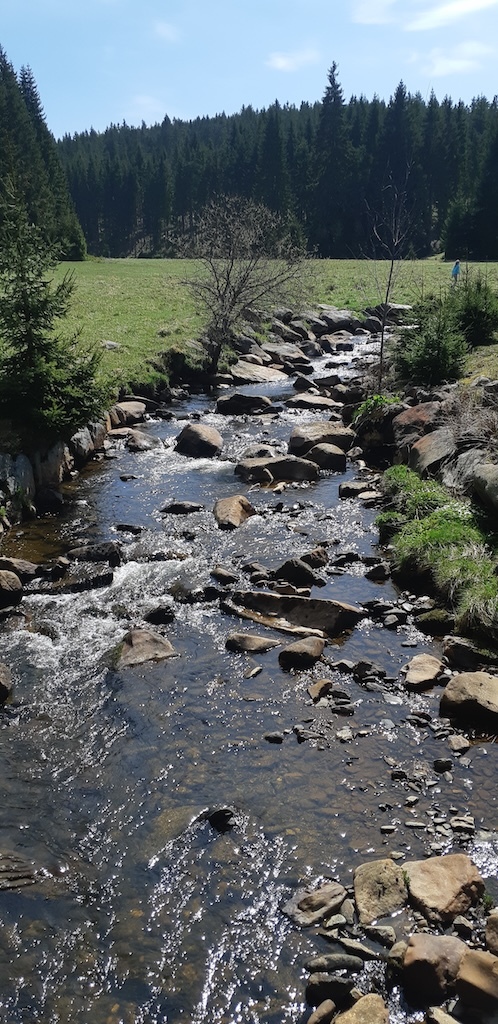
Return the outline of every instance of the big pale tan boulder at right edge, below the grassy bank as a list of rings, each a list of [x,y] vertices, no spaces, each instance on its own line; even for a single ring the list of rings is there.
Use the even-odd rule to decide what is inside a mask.
[[[498,676],[460,672],[450,679],[441,698],[441,714],[498,725]]]

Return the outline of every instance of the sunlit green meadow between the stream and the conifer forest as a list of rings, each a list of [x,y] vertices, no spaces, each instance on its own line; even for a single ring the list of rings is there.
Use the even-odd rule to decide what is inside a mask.
[[[387,264],[373,260],[317,260],[312,264],[308,305],[320,302],[357,311],[383,297]],[[130,381],[147,382],[150,360],[158,353],[202,333],[202,316],[183,284],[192,272],[188,260],[97,260],[69,264],[76,291],[68,327],[83,339],[115,342],[103,349],[103,377],[117,391]],[[57,273],[68,269],[64,264]],[[471,264],[498,292],[498,264]],[[403,262],[392,294],[396,302],[414,303],[442,295],[450,287],[451,264],[441,256]],[[462,273],[465,266],[462,265]],[[497,346],[472,353],[471,373],[498,376]],[[495,371],[492,368],[495,366]]]

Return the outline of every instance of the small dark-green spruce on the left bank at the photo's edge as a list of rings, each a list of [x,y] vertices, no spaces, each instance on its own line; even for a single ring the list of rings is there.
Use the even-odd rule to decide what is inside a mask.
[[[0,398],[4,415],[45,437],[68,436],[101,410],[99,352],[57,331],[70,308],[71,272],[54,285],[55,251],[30,222],[11,185],[1,202]]]

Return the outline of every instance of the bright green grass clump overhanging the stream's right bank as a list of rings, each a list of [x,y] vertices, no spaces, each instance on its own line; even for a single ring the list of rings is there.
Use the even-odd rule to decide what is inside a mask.
[[[390,537],[401,581],[428,584],[455,613],[458,630],[496,643],[497,538],[480,511],[406,466],[386,470],[382,485],[388,508],[378,516],[379,536]]]

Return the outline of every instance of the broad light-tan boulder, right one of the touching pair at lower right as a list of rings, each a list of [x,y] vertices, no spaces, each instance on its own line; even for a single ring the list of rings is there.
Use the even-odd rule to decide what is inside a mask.
[[[448,925],[483,895],[485,884],[465,853],[407,860],[404,873],[410,900],[433,924]]]

